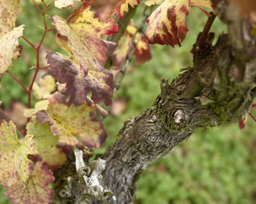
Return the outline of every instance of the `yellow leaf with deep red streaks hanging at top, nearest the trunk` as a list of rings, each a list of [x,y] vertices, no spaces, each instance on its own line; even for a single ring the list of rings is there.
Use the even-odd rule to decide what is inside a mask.
[[[190,0],[165,0],[149,17],[146,39],[151,44],[181,46],[187,34]]]

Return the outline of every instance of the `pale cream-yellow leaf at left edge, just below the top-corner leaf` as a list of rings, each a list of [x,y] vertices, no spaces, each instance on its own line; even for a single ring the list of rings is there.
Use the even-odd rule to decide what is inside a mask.
[[[21,52],[18,38],[23,35],[23,29],[22,25],[4,34],[4,36],[0,36],[0,76],[12,66],[12,59],[18,60]]]

